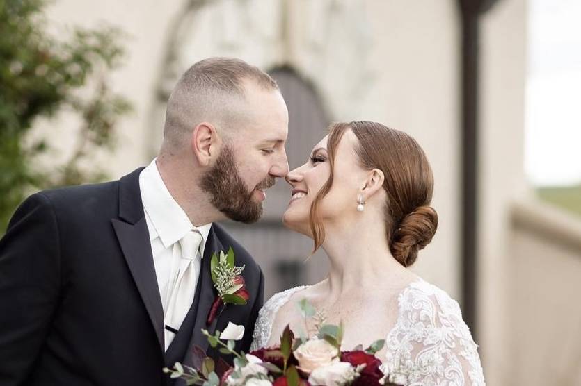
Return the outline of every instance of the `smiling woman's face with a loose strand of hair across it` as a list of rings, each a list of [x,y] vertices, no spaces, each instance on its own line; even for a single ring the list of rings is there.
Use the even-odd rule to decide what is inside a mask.
[[[309,160],[289,172],[287,182],[292,185],[292,199],[282,215],[287,228],[312,237],[309,215],[312,202],[325,185],[331,171],[327,152],[328,136],[313,147]],[[357,199],[365,186],[368,171],[360,167],[353,131],[345,131],[335,151],[335,167],[331,190],[321,201],[319,214],[324,226],[349,223],[357,215]]]

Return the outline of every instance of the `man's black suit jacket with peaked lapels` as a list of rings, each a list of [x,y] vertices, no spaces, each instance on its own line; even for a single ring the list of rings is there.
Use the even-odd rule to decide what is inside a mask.
[[[138,176],[30,196],[0,240],[0,385],[140,385],[167,382],[164,315]],[[232,246],[250,293],[206,326],[216,292],[213,252]],[[206,272],[207,271],[207,272]],[[189,347],[207,350],[201,329],[246,327],[248,350],[264,277],[220,226],[210,230]],[[191,351],[191,350],[189,350]],[[191,364],[191,355],[184,358]]]

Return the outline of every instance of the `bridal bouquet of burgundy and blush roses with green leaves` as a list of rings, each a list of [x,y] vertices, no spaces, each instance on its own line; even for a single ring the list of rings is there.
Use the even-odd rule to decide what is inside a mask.
[[[305,300],[299,302],[303,317],[315,317],[315,309]],[[214,364],[201,351],[194,351],[194,366],[175,363],[173,369],[164,369],[172,378],[183,378],[187,385],[200,386],[371,386],[394,385],[381,370],[381,361],[374,355],[385,344],[374,342],[367,349],[357,346],[352,351],[341,351],[343,326],[316,324],[312,337],[296,337],[287,326],[280,344],[250,353],[234,351],[234,341],[223,342],[220,332],[211,335],[203,330],[209,345],[223,354],[234,355],[234,366],[225,362]],[[394,385],[395,386],[395,385]]]

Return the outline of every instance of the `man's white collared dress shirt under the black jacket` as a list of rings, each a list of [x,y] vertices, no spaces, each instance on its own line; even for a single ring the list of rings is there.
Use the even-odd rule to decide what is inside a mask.
[[[203,258],[205,243],[212,223],[198,227],[191,224],[186,212],[173,199],[166,184],[161,179],[156,160],[157,158],[139,174],[139,189],[145,211],[145,221],[147,221],[150,233],[161,304],[164,306],[164,317],[166,317],[170,285],[175,282],[180,270],[183,270],[182,265],[184,264],[181,254],[174,253],[174,248],[179,248],[179,240],[186,233],[197,230],[202,235],[199,253],[200,257]],[[200,278],[200,260],[198,260],[196,271],[196,285]]]

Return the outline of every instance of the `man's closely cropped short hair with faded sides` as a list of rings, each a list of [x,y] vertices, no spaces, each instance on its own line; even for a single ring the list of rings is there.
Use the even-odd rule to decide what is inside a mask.
[[[208,58],[192,65],[168,99],[164,142],[180,146],[186,135],[203,121],[229,126],[244,103],[245,85],[278,90],[269,74],[236,58]]]

